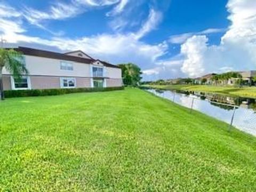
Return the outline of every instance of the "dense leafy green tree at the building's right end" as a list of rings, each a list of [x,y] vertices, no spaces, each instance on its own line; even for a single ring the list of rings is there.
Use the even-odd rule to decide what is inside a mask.
[[[125,85],[137,86],[141,80],[141,69],[133,63],[119,64],[122,69],[122,77]]]

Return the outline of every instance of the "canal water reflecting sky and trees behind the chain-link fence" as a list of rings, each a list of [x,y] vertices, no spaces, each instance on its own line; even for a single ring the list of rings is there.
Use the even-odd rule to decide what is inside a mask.
[[[147,91],[165,98],[181,106],[191,108],[202,113],[217,118],[230,124],[236,107],[233,126],[246,133],[256,135],[256,100],[241,97],[228,97],[225,95],[188,92],[188,91],[169,91],[148,89]]]

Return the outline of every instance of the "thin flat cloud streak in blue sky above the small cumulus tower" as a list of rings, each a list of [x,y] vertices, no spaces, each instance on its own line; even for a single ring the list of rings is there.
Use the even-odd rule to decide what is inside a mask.
[[[225,31],[225,29],[210,28],[197,33],[184,33],[179,35],[172,35],[169,39],[169,42],[173,44],[182,44],[182,43],[185,43],[188,38],[194,35],[208,35],[208,34],[214,34],[214,33],[221,33],[223,31]]]

